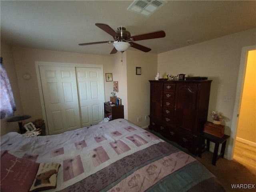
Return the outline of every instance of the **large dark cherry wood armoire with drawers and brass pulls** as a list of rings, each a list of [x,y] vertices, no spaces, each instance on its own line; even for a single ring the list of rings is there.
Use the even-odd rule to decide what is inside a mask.
[[[212,80],[150,80],[150,125],[193,154],[207,121]]]

